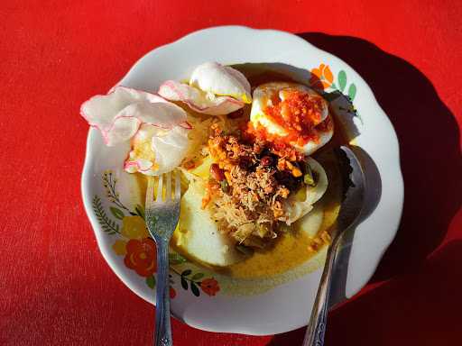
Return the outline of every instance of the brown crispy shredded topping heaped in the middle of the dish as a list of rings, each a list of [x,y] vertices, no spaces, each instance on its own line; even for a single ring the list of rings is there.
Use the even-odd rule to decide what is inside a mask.
[[[217,123],[208,150],[216,163],[210,167],[203,207],[212,209],[220,230],[236,241],[263,247],[283,229],[283,201],[304,184],[303,155],[247,132],[225,133]]]

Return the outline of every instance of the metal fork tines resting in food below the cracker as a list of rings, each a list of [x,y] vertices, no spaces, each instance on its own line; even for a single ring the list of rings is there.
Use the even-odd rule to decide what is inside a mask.
[[[172,176],[174,176],[174,192],[172,193]],[[180,172],[173,170],[156,177],[148,177],[146,204],[179,201],[181,195]]]

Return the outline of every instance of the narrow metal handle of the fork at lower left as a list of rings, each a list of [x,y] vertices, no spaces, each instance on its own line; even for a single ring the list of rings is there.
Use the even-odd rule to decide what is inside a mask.
[[[171,346],[169,243],[157,240],[155,346]]]

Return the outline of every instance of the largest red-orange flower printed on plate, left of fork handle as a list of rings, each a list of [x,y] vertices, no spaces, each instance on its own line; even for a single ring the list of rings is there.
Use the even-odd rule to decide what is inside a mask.
[[[134,269],[136,273],[144,278],[151,277],[155,273],[156,248],[155,242],[150,238],[141,241],[131,239],[126,243],[125,266]]]

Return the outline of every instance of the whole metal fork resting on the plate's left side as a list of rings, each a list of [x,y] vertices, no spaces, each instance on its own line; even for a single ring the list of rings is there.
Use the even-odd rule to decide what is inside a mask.
[[[146,190],[146,225],[157,245],[155,346],[173,344],[170,323],[169,242],[180,217],[180,172],[173,173],[175,177],[173,193],[171,175],[166,173],[158,179],[148,178]],[[156,180],[159,181],[157,188],[155,188]],[[156,196],[154,192],[157,192]]]

